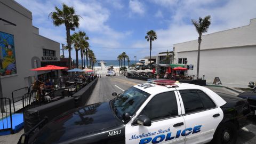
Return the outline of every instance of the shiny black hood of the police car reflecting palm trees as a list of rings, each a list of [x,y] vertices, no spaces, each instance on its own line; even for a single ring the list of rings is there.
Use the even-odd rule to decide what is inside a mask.
[[[53,119],[39,131],[33,143],[59,143],[82,135],[122,125],[109,102],[76,108]]]

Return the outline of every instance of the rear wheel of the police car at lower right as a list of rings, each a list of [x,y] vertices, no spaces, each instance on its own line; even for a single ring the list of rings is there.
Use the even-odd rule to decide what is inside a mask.
[[[216,131],[212,143],[233,144],[236,143],[237,129],[232,122],[222,124]]]

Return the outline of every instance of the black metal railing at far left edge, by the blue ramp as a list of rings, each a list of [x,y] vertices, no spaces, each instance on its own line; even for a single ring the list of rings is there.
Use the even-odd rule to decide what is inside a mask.
[[[2,116],[0,118],[0,122],[3,124],[3,127],[0,127],[0,131],[9,131],[10,130],[11,133],[13,133],[13,131],[12,131],[11,99],[0,98],[0,111],[1,111],[1,116]],[[9,116],[10,116],[10,119],[8,118]],[[9,124],[10,124],[10,126],[9,126]]]

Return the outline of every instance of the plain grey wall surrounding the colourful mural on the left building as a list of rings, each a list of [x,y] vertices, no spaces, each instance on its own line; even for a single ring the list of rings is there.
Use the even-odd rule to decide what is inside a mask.
[[[60,50],[59,43],[38,35],[38,28],[32,25],[32,13],[17,2],[1,0],[0,18],[17,25],[5,25],[6,22],[0,21],[0,31],[14,35],[17,74],[1,76],[3,97],[11,98],[13,90],[28,85],[26,77],[35,75],[34,71],[30,71],[31,59],[35,56],[39,58],[43,56],[43,46],[55,50],[58,59],[60,59]]]

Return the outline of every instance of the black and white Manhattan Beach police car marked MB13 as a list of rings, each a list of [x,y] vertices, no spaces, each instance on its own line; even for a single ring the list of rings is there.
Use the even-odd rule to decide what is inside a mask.
[[[252,115],[244,99],[158,79],[70,110],[29,143],[235,143]]]

